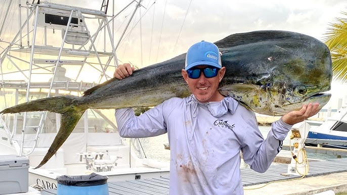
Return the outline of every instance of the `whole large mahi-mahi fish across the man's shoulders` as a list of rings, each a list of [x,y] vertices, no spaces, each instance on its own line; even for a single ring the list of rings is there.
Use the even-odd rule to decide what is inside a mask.
[[[288,31],[232,34],[215,42],[222,52],[226,74],[220,92],[247,108],[266,115],[284,115],[303,104],[330,99],[331,57],[316,38]],[[0,113],[50,111],[62,115],[61,126],[44,165],[61,147],[88,108],[119,109],[155,106],[170,97],[186,97],[190,90],[182,78],[185,54],[135,70],[133,75],[110,79],[83,96],[55,96],[7,108]]]

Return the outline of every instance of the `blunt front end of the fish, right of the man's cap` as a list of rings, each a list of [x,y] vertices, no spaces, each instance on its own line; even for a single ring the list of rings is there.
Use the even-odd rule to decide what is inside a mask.
[[[330,99],[332,64],[329,48],[321,41],[286,31],[250,32],[223,47],[226,66],[219,91],[256,113],[283,116],[303,105]],[[241,42],[241,43],[239,43]]]

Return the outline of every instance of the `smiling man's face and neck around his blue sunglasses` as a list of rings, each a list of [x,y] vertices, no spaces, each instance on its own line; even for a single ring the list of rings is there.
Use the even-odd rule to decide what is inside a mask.
[[[206,65],[196,66],[196,68],[205,68]],[[219,102],[223,96],[217,91],[218,85],[221,82],[225,73],[225,67],[222,67],[215,77],[206,78],[201,72],[199,78],[189,78],[186,70],[182,70],[182,76],[187,82],[189,89],[192,91],[196,99],[201,102]]]

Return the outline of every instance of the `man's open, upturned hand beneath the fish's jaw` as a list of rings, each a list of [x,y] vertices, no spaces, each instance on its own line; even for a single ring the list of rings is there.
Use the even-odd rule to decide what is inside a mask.
[[[319,104],[310,103],[309,105],[303,105],[299,111],[291,111],[290,113],[285,114],[282,117],[283,122],[288,125],[293,125],[299,122],[302,122],[313,115],[317,114],[320,109],[318,109]]]

